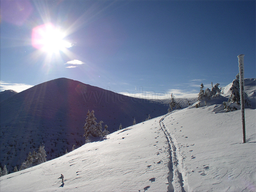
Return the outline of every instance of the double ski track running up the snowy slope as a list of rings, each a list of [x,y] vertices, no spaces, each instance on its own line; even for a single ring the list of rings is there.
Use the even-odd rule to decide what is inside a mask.
[[[168,114],[169,115],[169,114]],[[169,168],[169,176],[168,176],[168,192],[186,192],[184,189],[184,179],[185,176],[184,169],[182,169],[182,159],[180,159],[178,144],[176,139],[171,135],[164,125],[164,118],[168,115],[165,115],[163,118],[160,119],[159,124],[164,132],[168,146],[169,146],[169,153],[170,153],[170,160],[168,164]],[[180,160],[180,162],[179,162]]]

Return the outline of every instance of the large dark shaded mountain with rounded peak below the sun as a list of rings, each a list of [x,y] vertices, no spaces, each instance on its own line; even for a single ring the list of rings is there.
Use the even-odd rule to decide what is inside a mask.
[[[120,95],[66,78],[47,81],[8,97],[0,105],[0,162],[8,170],[45,145],[47,160],[85,144],[87,111],[110,132],[167,113],[168,104]],[[103,127],[104,127],[103,124]]]

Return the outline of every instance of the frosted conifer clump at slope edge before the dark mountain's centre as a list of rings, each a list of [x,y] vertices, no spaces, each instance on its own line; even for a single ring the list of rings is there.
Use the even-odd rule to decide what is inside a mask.
[[[83,136],[85,136],[86,140],[88,139],[89,135],[92,135],[93,137],[98,137],[102,135],[101,124],[103,123],[103,121],[100,121],[97,124],[96,120],[97,119],[94,116],[94,110],[92,110],[92,112],[88,110],[86,123],[85,123],[85,126],[83,127],[85,129],[85,134],[83,134]]]

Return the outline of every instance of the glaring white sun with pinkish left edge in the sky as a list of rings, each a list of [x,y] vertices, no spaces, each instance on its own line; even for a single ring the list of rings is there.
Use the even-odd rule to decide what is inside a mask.
[[[32,46],[47,53],[64,52],[72,47],[72,43],[64,40],[65,37],[65,32],[52,23],[39,25],[32,30]]]

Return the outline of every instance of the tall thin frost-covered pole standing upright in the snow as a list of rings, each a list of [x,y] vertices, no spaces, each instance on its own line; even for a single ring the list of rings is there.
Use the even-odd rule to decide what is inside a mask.
[[[240,103],[241,103],[241,116],[242,116],[242,126],[243,126],[243,143],[246,142],[245,136],[245,117],[244,117],[244,67],[243,67],[243,57],[244,55],[241,54],[237,56],[238,63],[239,63],[239,84],[240,84]]]

